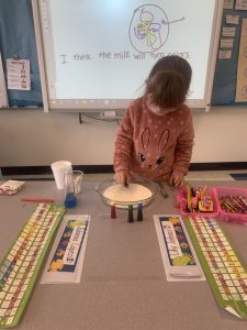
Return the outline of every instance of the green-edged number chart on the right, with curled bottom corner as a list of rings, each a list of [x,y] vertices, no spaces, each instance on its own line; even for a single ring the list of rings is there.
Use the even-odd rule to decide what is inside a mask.
[[[184,221],[218,305],[247,320],[247,272],[214,218]]]

